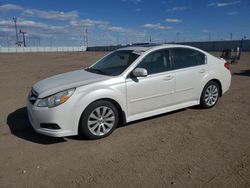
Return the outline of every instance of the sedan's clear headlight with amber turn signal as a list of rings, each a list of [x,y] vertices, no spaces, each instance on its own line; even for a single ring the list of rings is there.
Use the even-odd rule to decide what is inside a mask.
[[[60,104],[63,104],[71,97],[71,95],[74,93],[74,91],[75,91],[75,89],[69,89],[69,90],[65,90],[65,91],[56,93],[56,94],[51,95],[49,97],[40,99],[37,106],[52,108],[52,107],[58,106]]]

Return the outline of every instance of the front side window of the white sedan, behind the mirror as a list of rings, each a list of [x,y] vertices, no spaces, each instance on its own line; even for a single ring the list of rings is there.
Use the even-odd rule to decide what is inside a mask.
[[[147,55],[137,67],[147,69],[148,74],[168,71],[171,69],[169,51],[160,50],[153,52]]]

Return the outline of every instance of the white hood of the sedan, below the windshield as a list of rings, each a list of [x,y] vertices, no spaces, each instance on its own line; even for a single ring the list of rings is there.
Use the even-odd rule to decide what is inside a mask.
[[[57,92],[109,79],[109,76],[94,74],[85,70],[77,70],[58,74],[37,82],[33,89],[39,98],[53,95]]]

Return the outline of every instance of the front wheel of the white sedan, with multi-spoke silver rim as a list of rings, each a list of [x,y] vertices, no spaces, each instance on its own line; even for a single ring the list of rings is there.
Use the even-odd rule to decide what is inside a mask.
[[[91,103],[83,112],[79,133],[95,140],[110,135],[117,127],[119,114],[116,106],[106,100]]]

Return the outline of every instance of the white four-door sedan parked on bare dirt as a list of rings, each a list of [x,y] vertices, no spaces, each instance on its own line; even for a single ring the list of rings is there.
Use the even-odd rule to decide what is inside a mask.
[[[195,105],[211,108],[230,83],[229,64],[200,49],[128,47],[85,70],[37,82],[27,109],[38,133],[98,139],[119,123]]]

